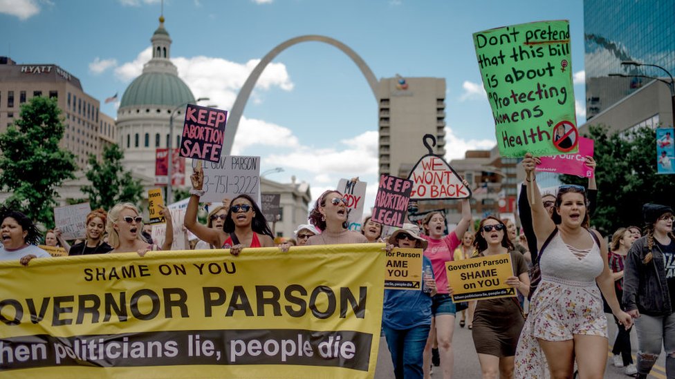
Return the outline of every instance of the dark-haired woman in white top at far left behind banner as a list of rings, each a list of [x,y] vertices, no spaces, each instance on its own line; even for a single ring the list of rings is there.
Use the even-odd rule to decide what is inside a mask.
[[[24,213],[2,207],[0,220],[0,260],[19,260],[27,266],[33,258],[51,257],[49,253],[35,246],[40,241],[40,233]]]

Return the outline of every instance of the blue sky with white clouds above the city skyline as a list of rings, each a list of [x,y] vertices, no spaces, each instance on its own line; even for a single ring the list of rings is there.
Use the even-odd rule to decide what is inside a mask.
[[[140,75],[158,26],[158,0],[0,0],[0,55],[57,64],[101,101]],[[167,0],[172,59],[195,97],[229,110],[248,73],[272,48],[326,35],[355,50],[376,77],[446,79],[448,160],[494,146],[472,33],[530,21],[571,22],[577,123],[584,122],[583,3],[459,0]],[[101,105],[116,117],[116,104]],[[340,177],[377,182],[376,101],[351,59],[306,42],[268,66],[248,101],[234,153],[260,155],[270,179],[311,184],[313,196]]]

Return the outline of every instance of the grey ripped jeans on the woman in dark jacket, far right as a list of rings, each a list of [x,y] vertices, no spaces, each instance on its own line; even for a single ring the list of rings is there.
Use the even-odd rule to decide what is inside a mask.
[[[675,378],[675,313],[667,316],[640,315],[635,319],[638,333],[638,373],[648,374],[665,348],[665,373]]]

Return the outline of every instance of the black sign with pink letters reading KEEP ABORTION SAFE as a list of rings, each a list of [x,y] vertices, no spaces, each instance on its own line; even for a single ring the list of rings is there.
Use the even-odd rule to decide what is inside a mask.
[[[181,157],[219,162],[227,119],[227,110],[187,104]]]

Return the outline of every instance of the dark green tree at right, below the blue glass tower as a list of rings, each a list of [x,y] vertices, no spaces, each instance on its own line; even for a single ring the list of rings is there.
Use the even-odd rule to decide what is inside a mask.
[[[622,226],[642,226],[642,204],[675,205],[675,178],[656,173],[656,131],[638,128],[625,135],[609,134],[605,126],[590,126],[585,137],[593,139],[597,162],[598,206],[593,227],[605,235]],[[562,175],[566,184],[586,184],[586,179]]]

